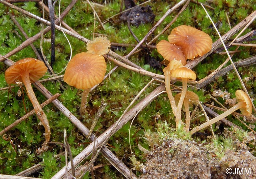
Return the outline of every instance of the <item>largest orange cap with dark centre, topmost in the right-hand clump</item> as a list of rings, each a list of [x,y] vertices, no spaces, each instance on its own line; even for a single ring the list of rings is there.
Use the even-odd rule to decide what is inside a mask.
[[[181,46],[185,58],[191,60],[209,52],[212,46],[212,39],[208,34],[185,25],[174,28],[168,39],[170,43]]]

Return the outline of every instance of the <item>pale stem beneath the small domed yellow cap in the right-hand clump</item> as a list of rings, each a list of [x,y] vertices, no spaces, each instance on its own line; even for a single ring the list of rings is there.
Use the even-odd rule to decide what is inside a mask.
[[[187,92],[187,78],[182,78],[182,92],[181,92],[180,100],[177,106],[176,129],[178,129],[178,126],[180,124],[183,124],[181,120],[181,107],[182,107],[184,98],[186,96],[186,92]]]

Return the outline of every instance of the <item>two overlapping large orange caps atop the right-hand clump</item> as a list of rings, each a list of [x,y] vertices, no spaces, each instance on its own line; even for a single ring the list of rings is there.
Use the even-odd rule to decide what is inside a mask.
[[[182,65],[187,59],[193,60],[211,50],[211,37],[201,30],[190,26],[175,27],[168,36],[169,42],[162,40],[157,44],[157,51],[167,61],[178,60]]]

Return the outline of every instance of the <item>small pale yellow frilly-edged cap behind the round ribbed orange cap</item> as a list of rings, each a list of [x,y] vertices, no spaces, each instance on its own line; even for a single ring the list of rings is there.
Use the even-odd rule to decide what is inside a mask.
[[[100,55],[107,54],[109,52],[110,45],[111,43],[107,37],[97,37],[94,39],[94,41],[87,43],[87,53]]]

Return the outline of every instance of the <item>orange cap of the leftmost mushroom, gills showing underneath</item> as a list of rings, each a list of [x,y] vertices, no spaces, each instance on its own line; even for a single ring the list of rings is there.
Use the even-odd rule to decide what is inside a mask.
[[[44,76],[46,71],[44,62],[35,58],[24,58],[5,71],[5,80],[8,84],[15,84],[15,80],[22,81],[22,74],[29,73],[30,82],[33,83]]]

